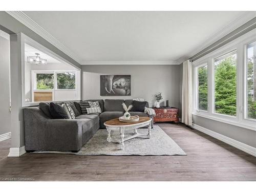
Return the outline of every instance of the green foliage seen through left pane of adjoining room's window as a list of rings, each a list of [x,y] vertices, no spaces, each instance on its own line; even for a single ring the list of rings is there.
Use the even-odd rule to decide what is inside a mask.
[[[53,88],[53,74],[36,74],[36,89],[49,90]]]

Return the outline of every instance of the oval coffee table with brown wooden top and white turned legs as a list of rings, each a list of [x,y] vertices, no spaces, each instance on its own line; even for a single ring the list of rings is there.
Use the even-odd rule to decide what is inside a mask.
[[[122,122],[119,119],[111,119],[109,121],[104,122],[106,126],[106,130],[108,131],[108,138],[106,139],[108,142],[118,142],[120,143],[121,150],[124,150],[124,141],[129,139],[133,139],[135,137],[140,138],[151,138],[151,121],[150,117],[140,117],[139,121],[136,122]],[[147,126],[148,132],[147,135],[139,134],[137,129],[143,126]],[[134,130],[134,135],[130,137],[124,138],[124,131]],[[111,131],[119,131],[120,132],[120,140],[111,138]]]

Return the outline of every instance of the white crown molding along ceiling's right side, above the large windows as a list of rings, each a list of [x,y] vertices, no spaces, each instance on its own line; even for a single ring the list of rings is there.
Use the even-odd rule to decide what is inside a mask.
[[[239,28],[240,26],[242,26],[243,24],[245,24],[246,22],[248,22],[250,19],[254,18],[255,16],[256,16],[255,11],[246,11],[244,14],[242,14],[239,17],[237,17],[236,19],[234,19],[229,25],[222,28],[217,33],[215,33],[214,35],[212,35],[211,37],[206,39],[203,42],[203,44],[201,44],[200,46],[193,49],[193,51],[191,51],[189,54],[180,57],[177,60],[177,62],[179,62],[179,64],[181,64],[183,61],[189,59],[190,57],[196,55],[197,53],[204,50],[208,46],[214,44],[217,40],[221,39],[225,35],[229,34],[230,32],[234,31],[235,29]]]

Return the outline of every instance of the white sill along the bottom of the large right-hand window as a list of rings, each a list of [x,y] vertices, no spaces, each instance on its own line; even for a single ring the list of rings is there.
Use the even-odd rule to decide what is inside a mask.
[[[196,115],[196,116],[203,117],[203,118],[206,118],[206,119],[211,119],[211,120],[215,120],[215,121],[219,121],[219,122],[239,126],[239,127],[242,127],[242,128],[248,129],[248,130],[256,131],[256,127],[255,127],[256,123],[254,123],[254,125],[253,125],[253,123],[248,124],[248,123],[245,123],[245,122],[238,122],[238,121],[232,120],[232,119],[224,119],[224,118],[216,117],[216,116],[213,116],[213,115],[202,114],[202,113],[197,113],[197,112],[193,112],[192,115]]]

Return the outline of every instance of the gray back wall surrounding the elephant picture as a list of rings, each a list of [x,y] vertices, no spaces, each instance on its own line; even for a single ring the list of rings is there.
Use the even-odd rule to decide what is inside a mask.
[[[82,99],[144,98],[154,104],[154,94],[179,107],[179,65],[86,65],[82,66]],[[131,75],[131,96],[100,96],[100,75]],[[161,102],[164,105],[165,102]]]

